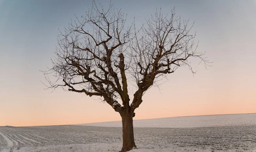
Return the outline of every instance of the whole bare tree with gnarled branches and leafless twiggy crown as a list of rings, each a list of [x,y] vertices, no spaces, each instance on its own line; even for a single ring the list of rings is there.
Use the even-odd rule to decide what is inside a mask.
[[[120,113],[121,151],[136,147],[134,111],[157,78],[185,65],[192,71],[190,57],[199,58],[205,65],[208,63],[203,53],[196,52],[195,35],[189,34],[192,27],[175,15],[174,9],[165,16],[161,10],[156,11],[138,30],[135,24],[125,26],[125,21],[126,15],[114,9],[113,4],[104,9],[93,3],[85,16],[76,17],[60,32],[53,67],[44,71],[50,88],[63,87],[99,96]],[[56,81],[50,80],[49,74],[53,74]],[[136,88],[131,102],[128,82]]]

